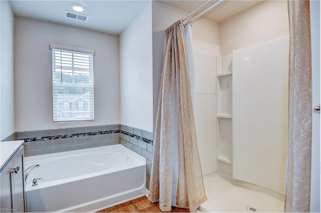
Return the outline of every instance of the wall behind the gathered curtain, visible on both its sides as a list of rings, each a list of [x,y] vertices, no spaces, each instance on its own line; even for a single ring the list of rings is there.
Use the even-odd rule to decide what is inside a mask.
[[[153,30],[153,127],[157,113],[166,29],[188,12],[152,1]],[[193,54],[195,66],[194,115],[203,174],[216,167],[216,63],[220,56],[219,24],[207,19],[193,22]]]

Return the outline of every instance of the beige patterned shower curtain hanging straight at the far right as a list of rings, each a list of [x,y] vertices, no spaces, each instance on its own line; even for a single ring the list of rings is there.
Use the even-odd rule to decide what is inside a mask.
[[[311,174],[311,39],[308,0],[288,0],[289,141],[285,211],[308,212]]]

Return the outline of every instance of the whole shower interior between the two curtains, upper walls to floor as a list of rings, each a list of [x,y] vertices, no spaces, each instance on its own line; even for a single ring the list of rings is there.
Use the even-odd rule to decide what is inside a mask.
[[[212,12],[219,13],[223,6]],[[193,22],[192,31],[200,30],[201,21]],[[200,210],[283,211],[288,135],[286,2],[262,2],[220,22],[218,30],[219,45],[193,37],[194,113],[208,197]]]

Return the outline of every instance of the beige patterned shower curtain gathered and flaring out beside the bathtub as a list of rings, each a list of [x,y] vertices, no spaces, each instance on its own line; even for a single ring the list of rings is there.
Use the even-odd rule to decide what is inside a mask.
[[[179,180],[176,205],[194,211],[207,198],[197,146],[183,21],[175,22],[166,33],[148,199],[159,199],[163,211],[172,208],[174,140],[177,139]]]

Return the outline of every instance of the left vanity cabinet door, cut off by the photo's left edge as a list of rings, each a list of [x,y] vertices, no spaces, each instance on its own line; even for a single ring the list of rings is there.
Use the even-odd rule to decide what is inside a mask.
[[[3,211],[12,211],[11,202],[11,185],[10,185],[10,172],[13,167],[13,162],[7,163],[0,171],[0,208]]]

